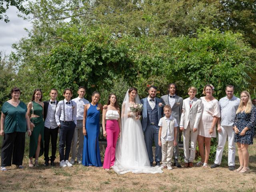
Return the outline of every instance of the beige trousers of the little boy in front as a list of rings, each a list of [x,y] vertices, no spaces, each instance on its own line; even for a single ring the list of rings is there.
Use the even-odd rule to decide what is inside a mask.
[[[161,138],[162,142],[162,164],[172,165],[173,140],[166,141]]]

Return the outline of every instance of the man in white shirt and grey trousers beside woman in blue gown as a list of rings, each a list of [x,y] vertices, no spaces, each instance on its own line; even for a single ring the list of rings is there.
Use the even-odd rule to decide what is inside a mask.
[[[85,95],[85,87],[80,86],[78,88],[78,97],[72,99],[72,101],[76,102],[76,128],[74,132],[74,136],[72,139],[71,145],[71,159],[70,163],[74,164],[76,159],[76,146],[78,142],[78,150],[77,150],[77,163],[82,163],[82,156],[83,156],[83,145],[84,145],[84,134],[83,134],[83,118],[84,118],[84,106],[89,104],[90,102],[84,98]]]

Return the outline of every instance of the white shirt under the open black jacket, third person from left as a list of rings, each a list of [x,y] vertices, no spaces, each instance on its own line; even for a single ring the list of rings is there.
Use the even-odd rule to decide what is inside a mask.
[[[56,110],[57,100],[55,100],[55,103],[51,103],[51,101],[53,102],[53,100],[50,99],[48,109],[47,109],[47,116],[44,121],[44,126],[49,129],[54,129],[54,128],[58,127],[56,120],[55,120],[55,110]]]

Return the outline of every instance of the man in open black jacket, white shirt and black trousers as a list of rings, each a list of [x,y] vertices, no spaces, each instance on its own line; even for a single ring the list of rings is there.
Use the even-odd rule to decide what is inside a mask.
[[[44,101],[44,166],[49,165],[49,160],[51,161],[51,166],[55,166],[54,160],[56,158],[55,154],[59,129],[54,116],[58,104],[56,100],[57,96],[58,91],[52,88],[50,91],[50,100]],[[52,156],[49,158],[50,139],[52,143]]]

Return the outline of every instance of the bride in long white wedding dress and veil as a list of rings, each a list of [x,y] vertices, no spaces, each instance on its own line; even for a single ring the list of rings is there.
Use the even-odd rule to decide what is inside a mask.
[[[144,141],[140,116],[130,111],[130,105],[140,99],[136,88],[130,88],[122,104],[121,135],[116,145],[116,160],[113,170],[117,174],[132,173],[162,173],[159,166],[151,167]]]

